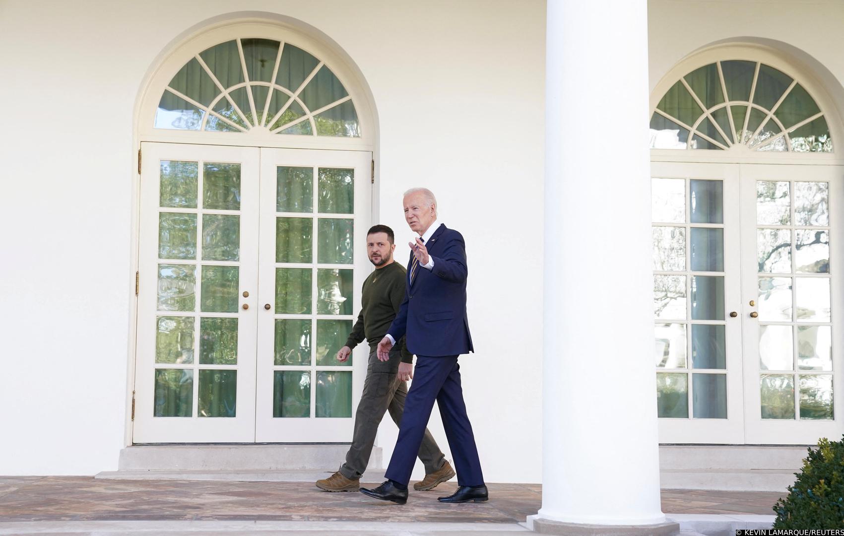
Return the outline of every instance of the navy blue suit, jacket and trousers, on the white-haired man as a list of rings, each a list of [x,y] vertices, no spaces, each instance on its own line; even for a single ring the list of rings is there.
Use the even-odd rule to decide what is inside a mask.
[[[404,402],[387,478],[408,484],[436,400],[452,449],[457,484],[482,485],[484,475],[457,365],[459,355],[473,351],[466,318],[466,246],[463,236],[445,225],[440,225],[425,246],[434,268],[418,266],[411,281],[414,255],[410,254],[404,300],[387,330],[395,340],[406,335],[408,350],[416,355],[414,381]]]

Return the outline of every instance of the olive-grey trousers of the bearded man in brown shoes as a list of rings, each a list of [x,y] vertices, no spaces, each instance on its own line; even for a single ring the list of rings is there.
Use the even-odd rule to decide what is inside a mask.
[[[385,363],[378,360],[375,348],[373,346],[370,352],[364,393],[360,397],[357,413],[354,414],[352,444],[346,453],[346,462],[340,466],[340,473],[352,480],[360,479],[366,470],[384,412],[389,411],[392,421],[398,426],[402,421],[404,400],[408,394],[407,382],[402,382],[397,376],[401,353],[398,349],[393,350],[390,352],[390,360]],[[425,464],[425,474],[434,473],[446,463],[445,454],[427,429],[421,443],[414,449],[416,453]]]

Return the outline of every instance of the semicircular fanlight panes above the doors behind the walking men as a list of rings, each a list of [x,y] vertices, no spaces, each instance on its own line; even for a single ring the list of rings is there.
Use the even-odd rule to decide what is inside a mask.
[[[268,39],[212,46],[170,80],[156,128],[360,137],[352,97],[310,53]]]

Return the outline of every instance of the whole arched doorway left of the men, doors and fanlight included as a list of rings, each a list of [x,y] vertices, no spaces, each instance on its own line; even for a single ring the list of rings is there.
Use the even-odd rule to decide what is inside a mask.
[[[282,24],[176,47],[138,116],[133,443],[346,441],[334,360],[370,268],[375,122],[331,46]]]

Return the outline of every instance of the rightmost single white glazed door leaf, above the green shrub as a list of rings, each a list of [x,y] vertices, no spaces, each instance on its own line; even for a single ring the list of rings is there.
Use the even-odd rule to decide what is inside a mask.
[[[741,166],[748,443],[814,444],[844,432],[842,170]]]

